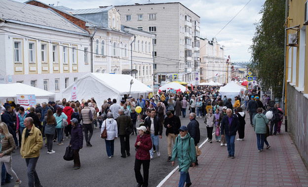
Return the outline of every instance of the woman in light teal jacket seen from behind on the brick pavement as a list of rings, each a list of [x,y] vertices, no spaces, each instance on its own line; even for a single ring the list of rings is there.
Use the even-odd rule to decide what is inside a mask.
[[[258,152],[261,152],[263,150],[266,126],[269,123],[269,120],[264,114],[262,114],[262,108],[258,108],[257,112],[258,113],[255,115],[252,124],[254,125],[254,130],[257,135]]]

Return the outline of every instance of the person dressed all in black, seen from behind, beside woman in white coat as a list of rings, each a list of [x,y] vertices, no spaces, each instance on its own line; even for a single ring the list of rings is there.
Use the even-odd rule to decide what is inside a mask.
[[[117,123],[117,132],[120,137],[120,144],[121,144],[121,157],[126,158],[130,156],[130,147],[129,147],[129,135],[130,133],[126,133],[126,128],[130,127],[133,129],[133,122],[130,116],[124,114],[124,110],[118,109],[119,116],[116,118]],[[126,152],[126,154],[125,154]]]

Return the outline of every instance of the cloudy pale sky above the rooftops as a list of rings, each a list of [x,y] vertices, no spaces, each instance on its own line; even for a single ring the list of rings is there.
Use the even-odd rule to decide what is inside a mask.
[[[17,0],[24,2],[25,0]],[[46,4],[63,5],[73,9],[98,8],[108,5],[149,3],[149,0],[39,0]],[[200,16],[200,37],[211,40],[242,9],[249,0],[151,0],[152,3],[181,2]],[[192,3],[193,2],[193,3]],[[248,49],[255,33],[254,23],[265,0],[251,0],[246,7],[216,36],[218,43],[225,46],[225,56],[231,62],[249,61]],[[112,4],[111,4],[112,3]],[[200,46],[202,47],[202,46]]]

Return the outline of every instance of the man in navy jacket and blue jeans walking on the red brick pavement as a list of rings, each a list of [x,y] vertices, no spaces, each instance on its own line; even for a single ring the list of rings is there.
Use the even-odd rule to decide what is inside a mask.
[[[234,140],[236,131],[239,128],[239,121],[235,114],[232,114],[230,108],[227,109],[227,116],[225,116],[221,123],[221,137],[226,137],[228,157],[234,157]]]

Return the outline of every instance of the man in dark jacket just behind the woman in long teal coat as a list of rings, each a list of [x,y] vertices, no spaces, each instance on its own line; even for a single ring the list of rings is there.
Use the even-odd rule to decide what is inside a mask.
[[[199,122],[197,120],[195,120],[195,113],[190,113],[190,120],[191,122],[187,125],[187,132],[190,134],[190,136],[193,138],[194,140],[194,146],[196,146],[199,141],[200,141],[200,129],[199,129]],[[198,160],[197,157],[195,159],[195,165],[199,165],[198,164]]]

